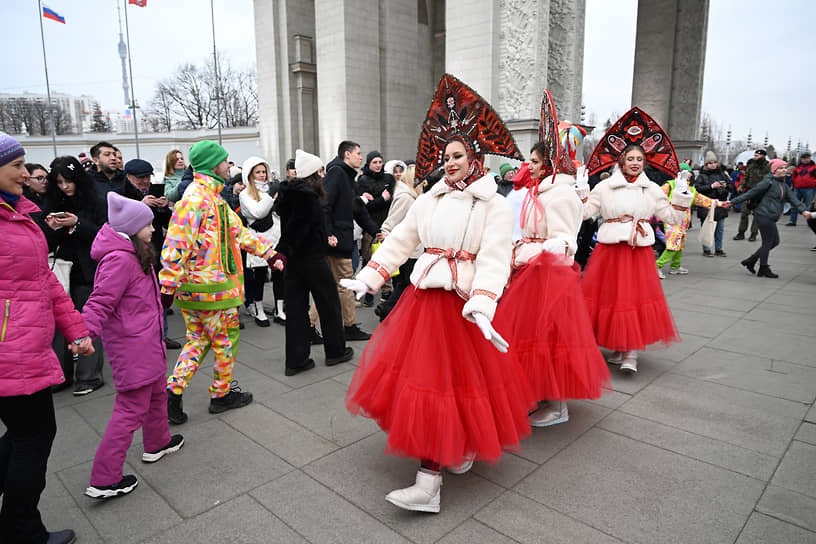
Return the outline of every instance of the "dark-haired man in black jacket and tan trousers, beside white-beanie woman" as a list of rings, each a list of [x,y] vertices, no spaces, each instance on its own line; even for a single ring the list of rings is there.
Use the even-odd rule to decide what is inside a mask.
[[[368,340],[371,337],[354,322],[354,293],[340,286],[341,279],[354,279],[351,254],[354,245],[354,199],[358,198],[354,190],[354,177],[362,164],[360,144],[344,140],[337,149],[337,157],[326,167],[326,177],[323,180],[326,190],[323,204],[326,233],[329,240],[337,242],[334,246],[328,246],[326,261],[337,282],[346,340]]]

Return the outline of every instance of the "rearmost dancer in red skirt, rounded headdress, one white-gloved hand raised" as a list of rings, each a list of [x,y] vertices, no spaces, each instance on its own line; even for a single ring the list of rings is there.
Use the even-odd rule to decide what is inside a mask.
[[[682,190],[683,180],[669,202],[644,173],[647,163],[672,175],[680,171],[671,140],[638,108],[609,128],[587,163],[590,173],[615,168],[584,204],[585,219],[600,213],[604,222],[581,286],[598,345],[614,350],[608,361],[630,373],[637,372],[639,350],[680,341],[655,273],[649,218],[676,225],[694,198]]]

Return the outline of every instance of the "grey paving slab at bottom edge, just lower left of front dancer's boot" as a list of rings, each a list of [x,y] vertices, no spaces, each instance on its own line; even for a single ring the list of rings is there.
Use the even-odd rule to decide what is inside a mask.
[[[409,542],[302,472],[287,474],[251,495],[309,542]]]

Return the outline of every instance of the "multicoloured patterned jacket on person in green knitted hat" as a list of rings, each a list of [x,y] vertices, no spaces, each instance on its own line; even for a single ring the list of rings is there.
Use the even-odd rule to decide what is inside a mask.
[[[244,300],[241,249],[269,259],[272,244],[252,233],[219,194],[223,181],[196,173],[176,204],[162,248],[159,283],[176,305],[219,310]]]

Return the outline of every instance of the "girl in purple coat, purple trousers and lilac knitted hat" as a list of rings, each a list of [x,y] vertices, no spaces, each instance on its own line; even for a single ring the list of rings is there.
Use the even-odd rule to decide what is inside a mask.
[[[102,337],[116,387],[113,414],[85,490],[100,499],[130,493],[138,484],[122,469],[139,427],[145,463],[184,445],[180,434],[170,436],[167,422],[167,353],[159,285],[152,269],[156,254],[150,244],[153,212],[113,192],[107,198],[108,222],[91,246],[91,257],[99,262],[94,290],[82,312],[91,338]]]

